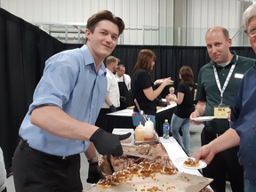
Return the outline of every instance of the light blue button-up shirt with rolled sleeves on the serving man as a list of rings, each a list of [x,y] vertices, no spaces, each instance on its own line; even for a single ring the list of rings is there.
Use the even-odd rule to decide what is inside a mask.
[[[56,106],[79,121],[95,124],[106,99],[107,84],[104,64],[97,73],[86,45],[53,55],[45,62],[44,75],[36,86],[33,103],[20,125],[20,137],[27,140],[31,148],[55,156],[84,152],[90,141],[69,140],[45,132],[30,123],[31,112],[40,105]]]

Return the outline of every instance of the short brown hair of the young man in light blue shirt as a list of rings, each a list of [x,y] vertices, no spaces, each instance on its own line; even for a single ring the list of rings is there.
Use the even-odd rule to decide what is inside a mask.
[[[119,17],[115,17],[114,14],[112,12],[109,12],[108,10],[102,10],[100,12],[93,14],[92,17],[90,17],[87,20],[86,28],[88,28],[93,34],[95,26],[98,22],[100,22],[100,20],[109,20],[114,24],[116,24],[119,28],[118,36],[120,36],[123,33],[124,21]],[[85,44],[86,43],[87,43],[87,38],[85,39]]]

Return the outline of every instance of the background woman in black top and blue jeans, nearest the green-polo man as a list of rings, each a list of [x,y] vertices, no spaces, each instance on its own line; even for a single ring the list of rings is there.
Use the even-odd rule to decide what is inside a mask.
[[[189,155],[190,149],[190,133],[189,133],[189,116],[195,110],[193,104],[195,94],[194,74],[190,67],[183,66],[180,68],[180,84],[176,96],[170,95],[166,100],[173,100],[177,103],[172,115],[171,132],[172,136],[178,140],[182,148],[185,149]],[[182,131],[182,139],[180,137],[180,130]]]

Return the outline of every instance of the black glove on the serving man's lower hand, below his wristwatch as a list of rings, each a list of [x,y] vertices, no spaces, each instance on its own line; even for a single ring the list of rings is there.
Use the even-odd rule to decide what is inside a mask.
[[[100,171],[98,162],[89,164],[89,172],[88,172],[88,178],[87,178],[86,182],[97,183],[100,179],[104,179],[104,178],[105,178],[105,176]]]

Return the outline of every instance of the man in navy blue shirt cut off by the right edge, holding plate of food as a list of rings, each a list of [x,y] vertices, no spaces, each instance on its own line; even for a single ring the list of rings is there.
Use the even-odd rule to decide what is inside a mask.
[[[244,12],[245,33],[256,53],[256,4]],[[210,164],[213,157],[239,145],[238,160],[244,168],[244,192],[256,191],[256,65],[246,71],[231,108],[231,127],[224,134],[199,148],[194,157]]]

